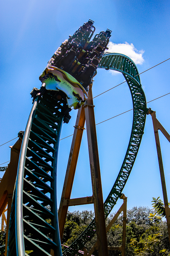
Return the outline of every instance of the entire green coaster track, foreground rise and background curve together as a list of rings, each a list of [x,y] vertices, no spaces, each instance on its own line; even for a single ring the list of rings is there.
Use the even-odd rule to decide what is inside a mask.
[[[146,119],[146,99],[133,61],[121,54],[105,54],[99,68],[121,72],[133,101],[133,124],[128,149],[117,179],[104,202],[105,217],[113,209],[136,159]],[[66,98],[46,91],[34,101],[23,137],[11,209],[7,256],[62,255],[57,219],[57,153]],[[49,223],[49,220],[51,222]],[[76,255],[95,234],[95,219],[63,256]]]

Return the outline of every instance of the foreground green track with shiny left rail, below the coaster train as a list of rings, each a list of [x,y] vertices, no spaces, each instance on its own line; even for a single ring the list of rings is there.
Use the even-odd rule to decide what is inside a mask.
[[[52,92],[53,93],[53,92]],[[62,109],[66,101],[46,92],[30,113],[13,196],[8,256],[61,256],[57,219],[56,167]],[[50,221],[51,220],[51,221]]]

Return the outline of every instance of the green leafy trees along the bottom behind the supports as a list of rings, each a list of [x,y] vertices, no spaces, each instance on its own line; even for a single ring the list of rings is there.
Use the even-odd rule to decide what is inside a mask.
[[[154,202],[160,202],[159,198],[155,200]],[[62,244],[69,246],[77,239],[93,216],[94,213],[88,211],[68,212]],[[113,216],[114,214],[110,214],[106,219],[106,226]],[[108,246],[121,246],[122,223],[123,214],[120,214],[107,233]],[[88,251],[95,242],[96,236],[87,242],[85,246]],[[93,255],[98,255],[97,250]],[[109,251],[109,256],[112,255],[119,256],[121,251]],[[155,213],[155,208],[151,210],[140,206],[127,210],[126,256],[170,256],[167,224],[162,221],[162,216]]]

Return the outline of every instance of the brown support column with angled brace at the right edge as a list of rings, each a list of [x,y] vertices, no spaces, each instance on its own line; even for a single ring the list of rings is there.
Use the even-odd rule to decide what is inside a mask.
[[[165,183],[164,166],[163,166],[163,161],[162,161],[162,154],[161,154],[161,149],[160,149],[158,130],[160,130],[164,134],[164,136],[167,138],[167,140],[169,142],[170,142],[170,135],[165,130],[165,128],[162,126],[162,124],[159,123],[158,119],[156,119],[156,112],[149,110],[148,113],[151,114],[151,116],[152,116],[152,122],[153,122],[153,127],[154,127],[156,150],[157,150],[157,155],[158,155],[159,171],[160,171],[160,178],[161,178],[161,184],[162,184],[162,192],[163,192],[163,197],[164,197],[165,214],[166,214],[169,244],[170,244],[170,208],[168,206],[168,196],[167,196],[167,189],[166,189],[166,183]]]

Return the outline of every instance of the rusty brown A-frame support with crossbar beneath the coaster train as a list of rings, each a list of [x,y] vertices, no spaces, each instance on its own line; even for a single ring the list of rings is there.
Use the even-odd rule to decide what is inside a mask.
[[[92,86],[90,85],[88,92],[88,100],[81,107],[81,109],[79,109],[76,124],[74,126],[75,129],[73,141],[71,144],[70,156],[66,170],[66,177],[62,191],[62,198],[58,212],[60,239],[62,240],[68,206],[94,203],[99,256],[108,256],[103,193],[100,177],[100,164],[91,87]],[[70,199],[85,120],[87,126],[87,140],[93,196],[89,196],[87,198]]]

